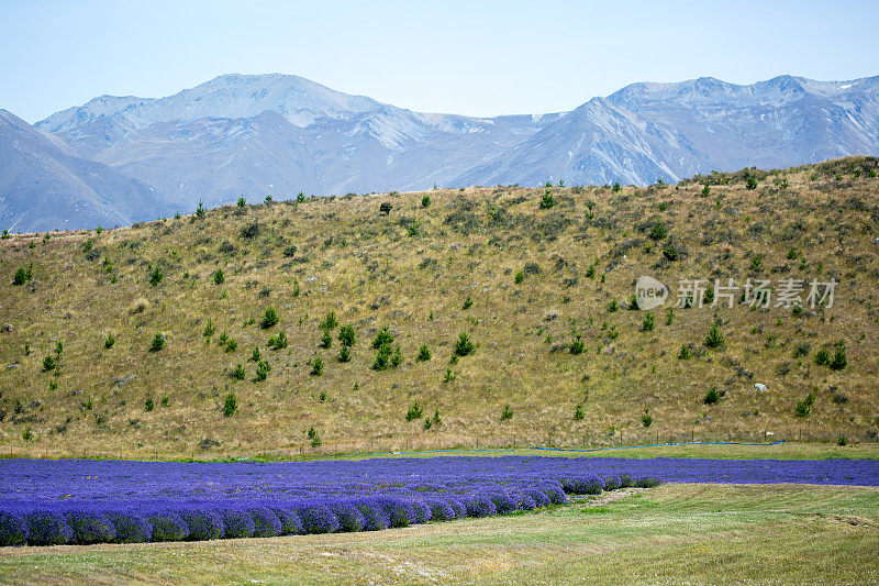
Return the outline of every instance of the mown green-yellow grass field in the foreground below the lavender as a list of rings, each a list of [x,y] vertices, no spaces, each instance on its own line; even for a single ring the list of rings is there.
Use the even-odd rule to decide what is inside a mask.
[[[664,485],[379,533],[0,550],[4,584],[879,579],[879,489]]]

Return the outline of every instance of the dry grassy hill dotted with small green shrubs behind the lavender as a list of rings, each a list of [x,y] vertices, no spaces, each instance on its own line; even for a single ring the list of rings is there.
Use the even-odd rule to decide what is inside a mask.
[[[9,235],[2,450],[876,441],[878,165],[349,195]],[[642,275],[671,290],[653,329],[631,309]],[[769,279],[774,295],[788,278],[838,285],[832,308],[752,309],[736,296],[669,313],[679,279],[693,278]],[[263,323],[268,308],[277,323]],[[345,325],[356,340],[340,362]],[[376,368],[385,327],[393,341]],[[281,332],[286,347],[270,349]],[[474,347],[453,360],[461,333]]]

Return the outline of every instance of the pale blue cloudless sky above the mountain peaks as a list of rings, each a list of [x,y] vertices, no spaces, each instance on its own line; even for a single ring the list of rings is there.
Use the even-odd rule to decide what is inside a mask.
[[[879,74],[879,2],[0,0],[0,108],[296,74],[403,108],[569,110],[634,81]]]

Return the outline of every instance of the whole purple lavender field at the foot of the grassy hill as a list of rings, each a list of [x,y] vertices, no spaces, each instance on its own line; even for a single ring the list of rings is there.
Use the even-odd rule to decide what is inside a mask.
[[[672,483],[879,486],[877,461],[434,457],[0,462],[0,545],[376,531]]]

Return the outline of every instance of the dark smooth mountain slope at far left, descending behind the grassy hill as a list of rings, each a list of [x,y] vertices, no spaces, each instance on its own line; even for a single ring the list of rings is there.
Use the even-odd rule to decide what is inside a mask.
[[[76,156],[60,141],[0,110],[0,225],[4,230],[130,225],[174,211],[152,187]]]

